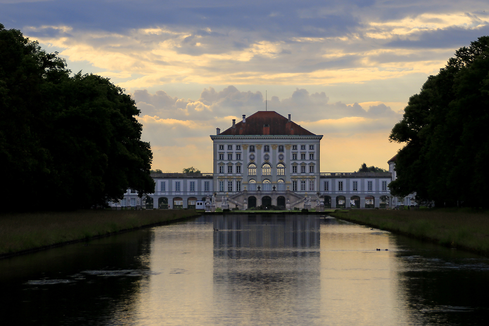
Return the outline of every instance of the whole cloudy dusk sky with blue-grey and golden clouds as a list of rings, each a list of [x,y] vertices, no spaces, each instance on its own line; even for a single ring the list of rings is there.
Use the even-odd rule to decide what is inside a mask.
[[[131,94],[163,172],[212,172],[209,135],[266,90],[324,135],[321,172],[387,168],[409,97],[488,21],[487,0],[0,0],[6,29]]]

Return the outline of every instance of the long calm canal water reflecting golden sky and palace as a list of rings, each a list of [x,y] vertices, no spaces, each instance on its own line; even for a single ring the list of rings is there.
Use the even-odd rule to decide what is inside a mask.
[[[5,259],[0,286],[3,325],[489,321],[488,258],[307,215],[202,216]]]

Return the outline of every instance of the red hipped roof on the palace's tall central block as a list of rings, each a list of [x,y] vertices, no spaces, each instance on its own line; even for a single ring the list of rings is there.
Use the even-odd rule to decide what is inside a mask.
[[[315,135],[275,111],[258,111],[220,135]]]

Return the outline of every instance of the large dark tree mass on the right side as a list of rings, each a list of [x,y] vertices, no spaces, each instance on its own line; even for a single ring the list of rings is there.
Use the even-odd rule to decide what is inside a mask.
[[[416,192],[437,205],[488,206],[489,37],[461,47],[409,98],[389,139],[396,157],[394,196]]]

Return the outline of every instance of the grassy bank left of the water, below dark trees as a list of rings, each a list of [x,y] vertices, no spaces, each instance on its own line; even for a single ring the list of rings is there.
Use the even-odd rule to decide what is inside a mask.
[[[195,210],[3,214],[0,215],[0,257],[195,215]]]

